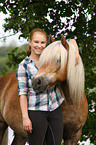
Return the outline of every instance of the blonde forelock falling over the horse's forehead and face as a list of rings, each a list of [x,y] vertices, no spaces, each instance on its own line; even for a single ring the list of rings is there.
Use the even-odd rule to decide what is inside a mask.
[[[61,44],[61,41],[55,41],[48,45],[42,52],[39,59],[39,67],[51,63],[52,60],[61,56],[61,69],[64,68],[67,60],[67,51]]]

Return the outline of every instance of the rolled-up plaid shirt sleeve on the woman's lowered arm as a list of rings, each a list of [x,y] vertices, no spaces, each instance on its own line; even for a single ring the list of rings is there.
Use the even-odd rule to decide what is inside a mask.
[[[27,65],[19,64],[17,67],[17,84],[18,84],[18,94],[27,95],[28,94],[28,74],[27,74]]]

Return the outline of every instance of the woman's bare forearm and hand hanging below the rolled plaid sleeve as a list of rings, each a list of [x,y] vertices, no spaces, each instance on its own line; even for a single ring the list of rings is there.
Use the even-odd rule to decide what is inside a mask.
[[[32,122],[28,116],[26,95],[20,96],[20,107],[21,107],[21,112],[22,112],[23,129],[28,131],[29,133],[32,133]]]

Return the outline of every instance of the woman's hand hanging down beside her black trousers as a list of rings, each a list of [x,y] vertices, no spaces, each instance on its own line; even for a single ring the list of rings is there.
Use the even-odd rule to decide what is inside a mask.
[[[23,118],[23,129],[29,133],[32,133],[32,122],[29,117]]]

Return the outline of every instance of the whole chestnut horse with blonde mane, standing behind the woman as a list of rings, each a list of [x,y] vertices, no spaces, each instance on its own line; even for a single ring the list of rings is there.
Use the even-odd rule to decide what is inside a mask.
[[[46,48],[44,53],[42,53],[40,58],[42,66],[34,80],[37,82],[38,79],[39,81],[42,79],[42,83],[39,82],[38,84],[40,86],[40,90],[38,89],[38,91],[42,92],[47,86],[51,87],[53,84],[59,82],[60,90],[65,97],[62,104],[64,145],[76,145],[80,139],[82,127],[85,124],[88,113],[88,104],[84,93],[84,74],[82,74],[83,65],[81,59],[76,66],[74,65],[75,60],[70,60],[75,57],[71,56],[71,44],[67,44],[64,37],[62,38],[62,44],[64,46],[62,46],[62,50],[60,50],[57,44],[62,46],[60,42],[55,42],[50,44],[52,48]],[[73,52],[72,54],[74,55]],[[72,61],[72,67],[70,66],[70,61]],[[32,81],[33,84],[34,80]],[[24,145],[28,137],[27,132],[22,127],[22,115],[15,72],[8,73],[0,78],[0,145],[2,144],[3,135],[8,126],[15,132],[12,145]]]

